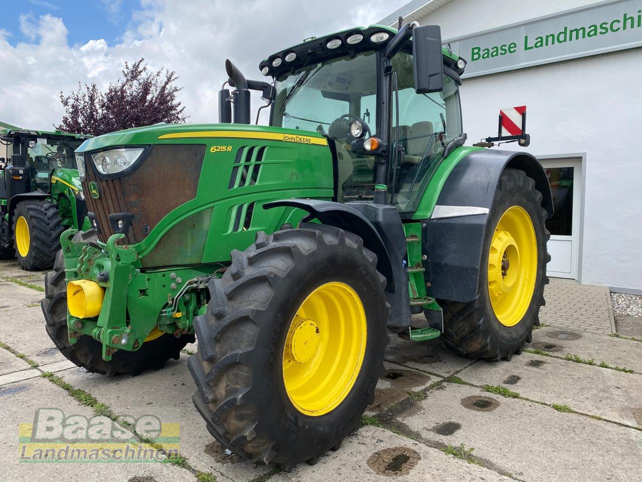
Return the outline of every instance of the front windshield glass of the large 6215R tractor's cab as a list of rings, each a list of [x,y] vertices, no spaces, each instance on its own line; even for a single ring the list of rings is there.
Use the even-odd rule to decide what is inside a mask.
[[[277,78],[270,125],[311,130],[334,141],[338,201],[371,200],[374,157],[351,152],[350,123],[361,118],[376,135],[376,54],[333,58]]]

